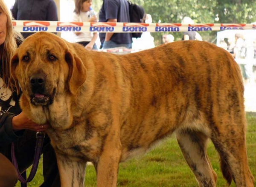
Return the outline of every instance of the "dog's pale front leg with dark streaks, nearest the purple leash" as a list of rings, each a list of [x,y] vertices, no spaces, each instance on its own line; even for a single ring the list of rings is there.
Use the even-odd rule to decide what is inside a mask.
[[[61,187],[83,187],[86,161],[76,161],[56,153]]]

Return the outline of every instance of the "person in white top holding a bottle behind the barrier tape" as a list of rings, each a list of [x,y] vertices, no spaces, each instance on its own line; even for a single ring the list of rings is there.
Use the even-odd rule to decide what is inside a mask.
[[[75,0],[75,10],[73,12],[72,22],[96,22],[97,16],[92,15],[90,10],[92,0]],[[97,32],[74,32],[73,42],[80,43],[85,49],[97,50],[96,40]]]

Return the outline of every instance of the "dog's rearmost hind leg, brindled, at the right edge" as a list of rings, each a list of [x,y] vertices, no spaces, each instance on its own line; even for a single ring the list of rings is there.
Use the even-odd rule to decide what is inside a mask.
[[[215,125],[211,139],[219,152],[221,171],[227,182],[230,184],[233,179],[238,187],[253,187],[254,178],[247,161],[243,118],[237,114],[236,122],[230,119],[224,121],[219,128]]]

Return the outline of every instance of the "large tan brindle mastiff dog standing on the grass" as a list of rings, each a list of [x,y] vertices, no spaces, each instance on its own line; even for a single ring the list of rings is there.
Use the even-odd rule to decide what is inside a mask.
[[[22,110],[52,127],[47,134],[62,186],[84,186],[91,161],[97,186],[115,187],[119,162],[174,132],[200,186],[216,186],[206,149],[210,139],[228,183],[253,187],[243,81],[224,49],[180,41],[114,55],[39,32],[20,45],[11,72],[23,91]]]

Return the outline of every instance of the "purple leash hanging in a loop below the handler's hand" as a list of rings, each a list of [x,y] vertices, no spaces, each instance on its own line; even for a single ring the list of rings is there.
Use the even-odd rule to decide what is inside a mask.
[[[14,167],[17,170],[18,179],[21,183],[21,187],[27,187],[27,183],[32,181],[32,179],[35,176],[36,170],[38,168],[39,159],[41,157],[42,147],[43,147],[43,143],[44,143],[44,135],[45,135],[44,132],[37,132],[36,133],[34,162],[33,162],[33,165],[32,165],[32,169],[29,173],[29,177],[27,179],[26,179],[26,170],[22,174],[20,174],[18,164],[17,164],[17,160],[16,160],[16,157],[15,157],[14,143],[12,142],[12,163],[13,163]]]

